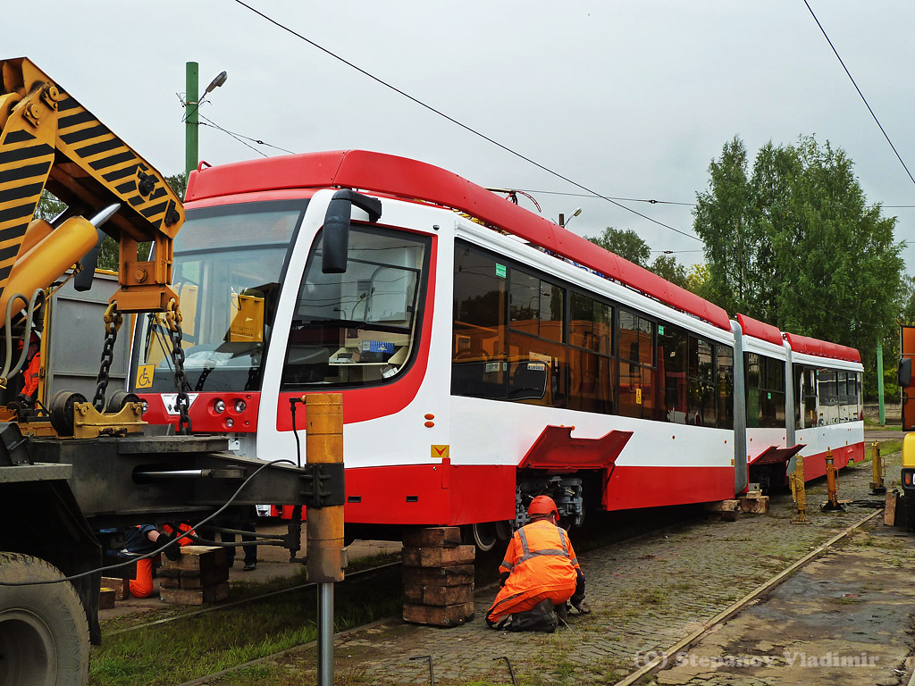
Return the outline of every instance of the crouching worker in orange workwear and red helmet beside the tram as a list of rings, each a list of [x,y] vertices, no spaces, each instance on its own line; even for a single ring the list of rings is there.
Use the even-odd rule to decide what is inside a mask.
[[[513,630],[553,631],[556,613],[565,619],[567,602],[582,614],[590,612],[585,574],[568,534],[557,526],[559,510],[553,498],[533,498],[527,514],[531,523],[514,532],[499,566],[501,590],[486,621],[490,627],[503,628],[503,618],[511,615],[508,628]]]

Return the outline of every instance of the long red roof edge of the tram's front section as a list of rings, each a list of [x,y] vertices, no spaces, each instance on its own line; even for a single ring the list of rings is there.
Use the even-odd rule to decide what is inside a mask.
[[[453,172],[365,150],[282,155],[192,171],[187,201],[280,188],[354,188],[456,209],[730,330],[727,311]]]

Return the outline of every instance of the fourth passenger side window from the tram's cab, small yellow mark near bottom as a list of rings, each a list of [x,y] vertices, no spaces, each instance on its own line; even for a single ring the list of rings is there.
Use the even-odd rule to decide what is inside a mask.
[[[658,387],[654,383],[654,324],[626,310],[619,310],[619,414],[642,419],[660,419]]]

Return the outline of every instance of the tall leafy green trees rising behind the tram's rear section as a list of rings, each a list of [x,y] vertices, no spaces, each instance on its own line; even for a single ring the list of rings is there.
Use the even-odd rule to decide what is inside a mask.
[[[729,312],[858,348],[873,367],[877,339],[899,315],[902,244],[852,166],[841,149],[802,136],[764,145],[748,174],[735,137],[709,166],[694,228]]]

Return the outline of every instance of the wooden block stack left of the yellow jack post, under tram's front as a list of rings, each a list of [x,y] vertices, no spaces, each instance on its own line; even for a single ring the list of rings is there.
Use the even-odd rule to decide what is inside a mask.
[[[229,563],[225,548],[186,545],[178,560],[159,570],[159,597],[173,605],[204,605],[229,597]]]

